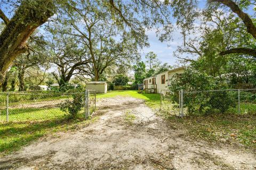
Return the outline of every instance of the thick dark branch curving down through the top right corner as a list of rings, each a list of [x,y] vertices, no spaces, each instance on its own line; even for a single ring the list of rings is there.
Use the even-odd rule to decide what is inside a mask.
[[[252,19],[247,13],[244,13],[235,2],[231,0],[209,0],[209,3],[212,2],[218,2],[228,6],[234,13],[236,13],[239,16],[239,18],[243,20],[247,28],[247,32],[250,33],[253,36],[253,38],[256,39],[256,27],[253,24]]]

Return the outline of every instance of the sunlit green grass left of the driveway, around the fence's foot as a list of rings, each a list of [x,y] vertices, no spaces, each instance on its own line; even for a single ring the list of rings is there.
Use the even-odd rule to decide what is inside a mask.
[[[81,111],[77,118],[70,119],[59,108],[26,108],[10,109],[10,122],[6,123],[5,118],[5,114],[0,115],[0,155],[18,150],[43,135],[86,126],[98,117],[85,120]]]

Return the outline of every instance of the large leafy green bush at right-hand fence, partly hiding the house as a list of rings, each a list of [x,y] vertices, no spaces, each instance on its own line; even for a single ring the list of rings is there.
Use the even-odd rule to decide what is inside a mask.
[[[172,77],[169,89],[172,91],[173,103],[179,103],[179,90],[205,91],[227,89],[227,84],[209,75],[187,69],[183,74]],[[198,92],[183,95],[183,106],[188,114],[224,113],[229,107],[234,107],[234,97],[230,91]]]

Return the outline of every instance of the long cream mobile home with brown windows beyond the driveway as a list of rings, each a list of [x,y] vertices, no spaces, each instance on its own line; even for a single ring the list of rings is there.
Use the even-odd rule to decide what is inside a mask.
[[[170,83],[171,77],[174,74],[181,74],[185,70],[185,67],[178,67],[177,69],[168,70],[153,77],[143,80],[143,89],[150,93],[161,93],[161,90],[167,90],[167,86]]]

